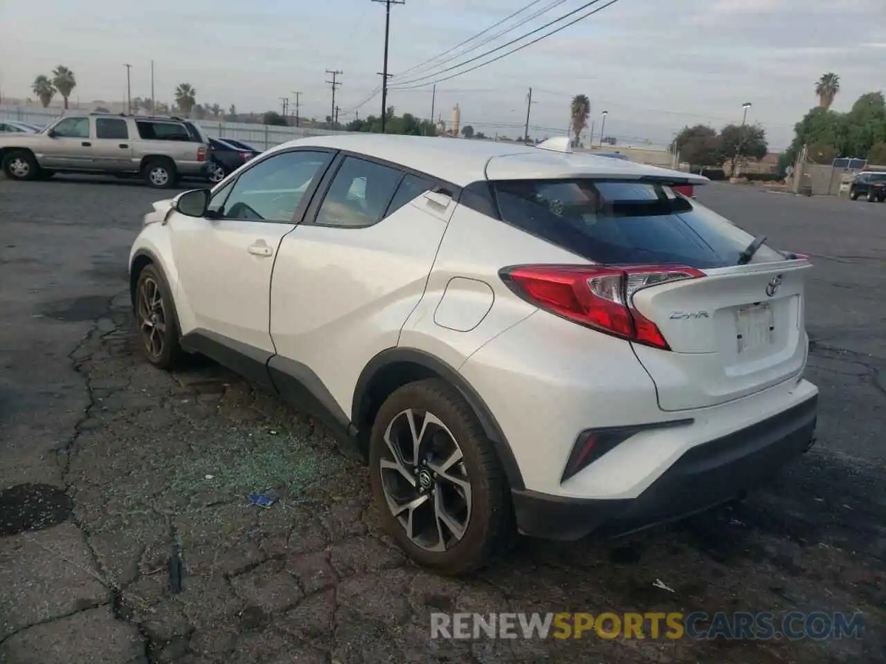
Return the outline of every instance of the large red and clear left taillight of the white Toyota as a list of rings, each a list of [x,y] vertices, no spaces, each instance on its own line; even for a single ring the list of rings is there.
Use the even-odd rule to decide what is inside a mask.
[[[518,296],[565,319],[637,344],[670,350],[658,326],[633,308],[638,290],[704,273],[688,266],[528,265],[503,268]]]

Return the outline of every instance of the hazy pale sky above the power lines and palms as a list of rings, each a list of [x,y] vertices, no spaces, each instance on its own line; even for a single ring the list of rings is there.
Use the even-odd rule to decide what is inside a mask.
[[[524,50],[440,81],[432,94],[434,81],[571,19],[470,65],[441,70],[586,3],[537,0],[439,58],[529,0],[392,5],[388,105],[398,114],[430,117],[433,103],[434,115],[449,120],[459,104],[462,127],[515,138],[523,135],[532,88],[530,135],[550,136],[565,135],[571,97],[583,93],[592,106],[588,124],[598,135],[607,111],[607,135],[620,143],[658,144],[686,125],[741,122],[742,104],[750,102],[747,120],[762,124],[770,147],[778,150],[790,143],[794,123],[817,104],[814,84],[822,73],[841,77],[837,111],[886,85],[886,0],[617,0]],[[330,113],[330,69],[343,72],[336,104],[339,120],[346,121],[381,111],[381,95],[371,96],[381,82],[384,36],[385,4],[372,0],[0,0],[0,91],[27,97],[37,74],[63,64],[76,74],[75,99],[122,101],[129,63],[133,97],[149,97],[153,58],[160,101],[171,101],[175,86],[188,82],[198,103],[279,111],[278,97],[294,100],[299,91],[300,114],[322,120]],[[429,58],[437,59],[425,63]]]

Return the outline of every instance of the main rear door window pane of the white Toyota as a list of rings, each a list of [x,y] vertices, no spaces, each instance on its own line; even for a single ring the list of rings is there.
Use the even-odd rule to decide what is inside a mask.
[[[315,223],[365,228],[380,221],[403,173],[396,168],[347,157],[332,180]]]

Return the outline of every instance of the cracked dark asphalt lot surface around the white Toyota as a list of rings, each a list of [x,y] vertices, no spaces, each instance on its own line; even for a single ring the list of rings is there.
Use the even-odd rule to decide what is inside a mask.
[[[886,205],[700,193],[815,264],[818,444],[777,483],[618,542],[525,540],[453,580],[403,559],[322,426],[208,361],[140,359],[126,261],[159,197],[0,178],[0,662],[886,658]],[[262,490],[280,502],[250,506]],[[429,619],[795,610],[861,612],[863,637],[454,641],[431,640]]]

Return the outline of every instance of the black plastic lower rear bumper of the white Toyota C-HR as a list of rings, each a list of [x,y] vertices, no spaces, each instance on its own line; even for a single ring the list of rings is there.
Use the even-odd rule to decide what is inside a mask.
[[[636,498],[562,498],[513,492],[517,526],[526,535],[575,540],[623,535],[702,512],[775,475],[812,445],[818,394],[728,436],[696,445]]]

